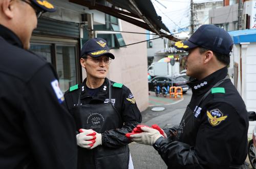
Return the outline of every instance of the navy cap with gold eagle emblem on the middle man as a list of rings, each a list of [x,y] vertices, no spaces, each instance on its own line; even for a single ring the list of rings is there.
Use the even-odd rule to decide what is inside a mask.
[[[110,52],[106,41],[102,38],[93,38],[84,43],[80,58],[85,54],[89,54],[93,58],[100,57],[101,55],[107,55],[111,59],[115,59],[115,56]]]

